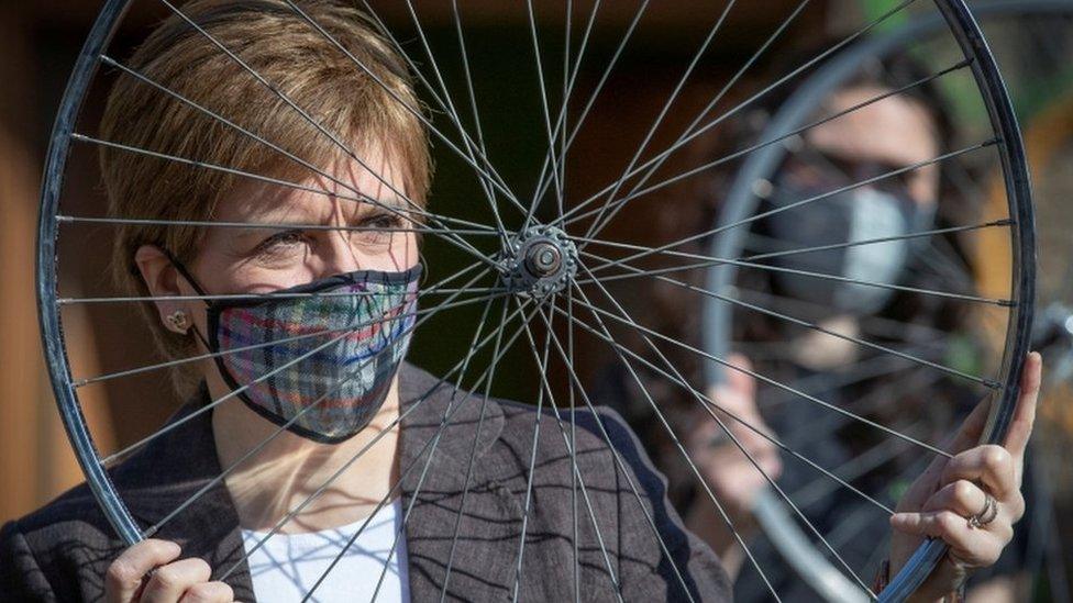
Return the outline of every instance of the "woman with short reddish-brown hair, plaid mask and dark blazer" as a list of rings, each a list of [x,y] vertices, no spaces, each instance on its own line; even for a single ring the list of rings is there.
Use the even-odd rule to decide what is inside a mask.
[[[322,601],[362,600],[377,591],[392,600],[424,601],[446,592],[484,601],[517,591],[523,600],[558,601],[574,598],[575,589],[580,599],[608,600],[616,587],[631,601],[728,601],[718,559],[682,527],[666,501],[665,482],[617,415],[578,413],[573,451],[554,436],[539,440],[534,504],[526,515],[533,425],[555,434],[558,422],[546,413],[538,422],[528,405],[495,400],[485,405],[402,361],[420,268],[417,237],[399,228],[418,222],[430,179],[424,131],[400,104],[417,107],[416,96],[399,58],[361,14],[329,1],[301,7],[368,72],[355,69],[281,1],[198,0],[182,10],[214,41],[235,48],[243,64],[276,90],[308,108],[354,155],[331,144],[321,127],[311,126],[178,18],[150,36],[131,62],[134,69],[272,138],[314,168],[174,97],[153,93],[144,82],[128,77],[117,82],[102,138],[305,188],[250,182],[122,149],[102,154],[113,215],[277,226],[131,225],[121,231],[115,245],[120,281],[142,294],[176,298],[148,306],[162,347],[175,357],[224,354],[182,376],[184,382],[200,384],[172,420],[174,427],[112,472],[132,514],[152,526],[152,537],[124,549],[88,490],[77,488],[4,526],[2,596],[289,601],[327,576],[317,591]],[[363,201],[344,197],[353,191]],[[286,294],[256,303],[189,299],[269,291]],[[336,299],[366,301],[331,301]],[[306,364],[288,365],[317,349],[308,343],[275,345],[264,356],[242,351],[256,343],[356,324],[377,326],[319,348],[311,357],[316,360]],[[365,364],[355,366],[356,360]],[[278,370],[258,380],[268,367]],[[1029,386],[1035,375],[1027,372]],[[1015,429],[1021,438],[1028,436],[1035,409],[1032,388],[1026,392]],[[211,413],[199,413],[209,400],[226,397]],[[447,427],[440,435],[442,425]],[[428,447],[430,442],[435,446]],[[472,478],[466,474],[471,453],[478,455]],[[973,449],[959,456],[962,472],[952,476],[991,468],[984,462],[991,454]],[[576,536],[575,460],[588,487]],[[1016,515],[1006,491],[1016,492],[1010,471],[1017,456],[996,462],[1009,471],[992,482],[1004,498],[1002,515],[988,531],[1008,528]],[[414,466],[418,470],[410,471]],[[219,480],[221,474],[225,479]],[[330,478],[331,487],[322,490]],[[931,476],[922,483],[930,488],[937,481]],[[643,493],[641,500],[633,485]],[[978,511],[944,495],[932,498],[941,509],[963,516]],[[362,532],[357,541],[347,541],[373,513],[370,523],[377,525],[396,526],[400,516],[406,518],[398,546],[394,529],[387,538]],[[932,524],[928,513],[906,517],[912,525]],[[652,537],[650,521],[662,544]],[[275,528],[278,533],[264,540],[262,534]],[[911,547],[922,529],[908,531],[895,552]],[[517,572],[522,534],[528,535],[524,568]],[[327,559],[294,557],[309,538],[321,543]],[[391,552],[383,555],[388,546]],[[266,547],[274,547],[270,555],[261,555]],[[354,550],[379,554],[374,567],[385,570],[377,577]],[[970,563],[978,563],[984,552],[983,543],[963,550]],[[336,557],[339,566],[332,569],[330,560]],[[900,557],[893,561],[896,569]],[[325,574],[327,569],[332,571]],[[960,573],[942,572],[926,594],[940,596],[958,580]]]

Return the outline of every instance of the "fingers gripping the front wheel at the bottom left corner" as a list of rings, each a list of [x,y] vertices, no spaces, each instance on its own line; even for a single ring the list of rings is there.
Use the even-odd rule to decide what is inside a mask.
[[[109,603],[234,601],[231,587],[209,582],[212,574],[209,563],[196,557],[176,561],[180,552],[179,545],[152,538],[128,548],[108,567],[104,600]]]

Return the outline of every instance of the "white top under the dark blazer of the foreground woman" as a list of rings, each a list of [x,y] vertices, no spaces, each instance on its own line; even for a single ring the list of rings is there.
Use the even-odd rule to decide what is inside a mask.
[[[253,592],[259,603],[301,601],[332,563],[365,520],[350,525],[306,534],[274,534],[257,550],[250,552],[267,533],[242,531]],[[395,536],[402,526],[402,503],[384,505],[346,549],[310,601],[347,603],[373,600],[376,584]],[[387,563],[376,601],[405,603],[410,600],[406,566],[406,535],[399,537]]]

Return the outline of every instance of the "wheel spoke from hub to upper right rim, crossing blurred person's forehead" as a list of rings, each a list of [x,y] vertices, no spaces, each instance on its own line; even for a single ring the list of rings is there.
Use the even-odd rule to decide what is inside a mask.
[[[912,1],[912,0],[910,0],[910,1]],[[960,69],[964,69],[965,67],[967,67],[971,64],[972,63],[970,60],[967,60],[967,59],[966,60],[962,60],[962,62],[960,62],[960,63],[958,63],[958,64],[955,64],[955,65],[953,65],[951,67],[948,67],[947,69],[943,69],[941,71],[937,71],[936,74],[932,74],[932,75],[930,75],[928,77],[925,77],[925,78],[921,78],[919,80],[912,81],[912,82],[907,83],[907,85],[905,85],[905,86],[903,86],[900,88],[896,88],[894,90],[889,90],[887,92],[884,92],[884,93],[878,94],[876,97],[873,97],[871,99],[867,99],[865,101],[862,101],[862,102],[860,102],[858,104],[854,104],[852,107],[849,107],[847,109],[843,109],[842,111],[839,111],[837,113],[833,113],[833,114],[827,115],[825,118],[818,119],[818,120],[816,120],[816,121],[814,121],[814,122],[811,122],[809,124],[803,125],[801,127],[798,127],[796,130],[793,130],[790,132],[787,132],[785,134],[782,134],[779,136],[776,136],[776,137],[771,138],[768,141],[764,141],[762,143],[756,143],[756,144],[754,144],[752,146],[748,146],[748,147],[741,148],[739,150],[735,150],[733,153],[730,153],[729,155],[724,155],[724,156],[722,156],[722,157],[720,157],[718,159],[715,159],[712,161],[708,161],[708,163],[703,164],[703,165],[700,165],[700,166],[698,166],[696,168],[693,168],[693,169],[686,170],[686,171],[684,171],[682,174],[678,174],[678,175],[676,175],[676,176],[674,176],[674,177],[672,177],[670,179],[663,180],[662,182],[659,182],[659,183],[655,183],[655,185],[651,185],[651,186],[649,186],[649,187],[646,187],[646,188],[644,188],[642,190],[637,190],[640,187],[634,187],[634,190],[632,190],[628,196],[623,197],[622,199],[619,199],[619,200],[615,201],[611,204],[615,205],[616,208],[621,206],[622,204],[628,203],[631,199],[635,199],[638,197],[643,197],[643,196],[649,194],[649,193],[651,193],[653,191],[656,191],[656,190],[659,190],[661,188],[667,187],[670,185],[673,185],[675,182],[678,182],[681,180],[684,180],[686,178],[689,178],[689,177],[695,176],[697,174],[700,174],[703,171],[710,170],[712,168],[716,168],[718,166],[721,166],[721,165],[723,165],[723,164],[726,164],[728,161],[731,161],[733,159],[737,159],[739,157],[743,157],[743,156],[745,156],[745,155],[748,155],[750,153],[753,153],[755,150],[759,150],[761,148],[764,148],[764,147],[767,147],[767,146],[771,146],[771,145],[781,143],[781,142],[786,141],[788,138],[793,138],[795,136],[799,136],[800,134],[803,134],[804,132],[807,132],[808,130],[811,130],[814,127],[823,125],[823,124],[826,124],[828,122],[834,121],[834,120],[837,120],[839,118],[842,118],[844,115],[848,115],[849,113],[852,113],[854,111],[859,111],[859,110],[861,110],[861,109],[863,109],[865,107],[869,107],[871,104],[874,104],[876,102],[880,102],[880,101],[882,101],[884,99],[887,99],[887,98],[891,98],[891,97],[894,97],[894,96],[897,96],[897,94],[901,94],[903,92],[906,92],[908,90],[911,90],[912,88],[922,86],[922,85],[925,85],[927,82],[930,82],[930,81],[932,81],[934,79],[938,79],[938,78],[940,78],[940,77],[942,77],[942,76],[944,76],[947,74],[950,74],[950,72],[953,72],[953,71],[956,71],[956,70],[960,70]],[[711,125],[711,124],[709,124],[709,125]],[[688,142],[693,139],[693,136],[694,135],[690,135],[689,137],[686,137],[685,139],[683,139],[679,143],[678,146],[672,148],[670,152],[665,152],[665,154],[664,154],[663,157],[657,156],[653,160],[663,160],[663,159],[665,159],[666,156],[670,156],[671,153],[673,153],[677,148],[681,148],[685,144],[688,144]],[[645,168],[644,165],[640,166],[638,168],[638,170],[643,169],[643,168]],[[637,171],[637,170],[634,170],[634,171]],[[632,176],[634,176],[634,175],[630,175],[629,177],[632,177]],[[648,181],[648,178],[645,178],[644,181]],[[593,215],[593,214],[597,213],[597,211],[599,209],[591,209],[591,210],[586,211],[583,214],[574,215],[577,212],[584,210],[586,205],[595,202],[597,199],[599,199],[600,197],[602,197],[604,193],[606,191],[608,191],[608,190],[610,190],[609,187],[608,188],[605,188],[601,191],[598,191],[597,193],[593,194],[591,197],[589,197],[588,199],[586,199],[582,203],[578,203],[571,211],[566,212],[566,215],[564,216],[564,219],[567,219],[567,220],[565,220],[564,223],[568,224],[571,222],[575,222],[575,221],[585,219],[585,217],[587,217],[589,215]]]

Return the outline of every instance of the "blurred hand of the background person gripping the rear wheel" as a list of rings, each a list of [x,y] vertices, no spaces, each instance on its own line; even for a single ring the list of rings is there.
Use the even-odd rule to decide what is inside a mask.
[[[749,359],[740,354],[732,354],[729,362],[745,370],[752,368]],[[707,393],[717,406],[730,414],[718,409],[711,409],[710,412],[722,421],[741,448],[711,418],[709,411],[700,407],[694,411],[692,428],[686,435],[686,448],[735,527],[748,531],[756,495],[767,485],[767,478],[778,478],[783,466],[778,458],[778,448],[760,433],[745,426],[748,424],[764,434],[771,433],[756,406],[755,380],[734,369],[727,369],[726,376],[723,383],[710,388]],[[742,448],[752,456],[756,465],[742,453]],[[757,466],[763,473],[756,470]],[[764,477],[765,473],[767,478]]]

